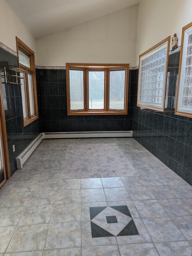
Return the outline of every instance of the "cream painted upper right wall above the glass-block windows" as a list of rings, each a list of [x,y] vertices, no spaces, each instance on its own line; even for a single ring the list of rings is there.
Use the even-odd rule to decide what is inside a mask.
[[[139,55],[177,34],[181,45],[182,27],[192,22],[192,0],[140,0],[138,10],[136,66]],[[170,45],[170,49],[171,49]]]

